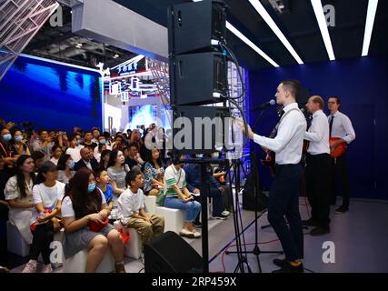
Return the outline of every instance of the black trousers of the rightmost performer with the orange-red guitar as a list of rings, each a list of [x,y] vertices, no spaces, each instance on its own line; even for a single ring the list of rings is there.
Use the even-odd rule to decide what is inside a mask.
[[[346,152],[343,154],[343,156],[339,156],[337,158],[332,157],[332,197],[331,197],[331,203],[335,204],[335,201],[337,199],[337,192],[339,192],[339,186],[337,183],[337,177],[338,180],[341,183],[342,186],[342,195],[343,195],[343,206],[349,207],[349,200],[350,200],[350,184],[349,184],[349,177],[348,177],[348,168],[346,163]]]

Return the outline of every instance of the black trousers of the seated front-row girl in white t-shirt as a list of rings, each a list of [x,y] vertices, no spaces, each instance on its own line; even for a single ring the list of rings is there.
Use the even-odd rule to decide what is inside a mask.
[[[54,240],[54,227],[51,221],[44,225],[36,226],[33,231],[33,246],[31,247],[30,259],[37,260],[42,253],[45,265],[50,264],[50,244]]]

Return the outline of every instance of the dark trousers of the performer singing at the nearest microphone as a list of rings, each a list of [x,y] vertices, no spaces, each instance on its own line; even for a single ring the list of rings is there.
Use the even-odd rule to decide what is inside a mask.
[[[268,199],[268,221],[279,237],[288,261],[303,258],[303,226],[299,213],[302,173],[302,164],[276,166]]]

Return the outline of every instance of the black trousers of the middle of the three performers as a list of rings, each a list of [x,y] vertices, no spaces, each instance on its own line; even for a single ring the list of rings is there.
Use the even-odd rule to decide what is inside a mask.
[[[328,228],[332,189],[332,159],[329,154],[306,156],[305,185],[313,220],[318,226]]]

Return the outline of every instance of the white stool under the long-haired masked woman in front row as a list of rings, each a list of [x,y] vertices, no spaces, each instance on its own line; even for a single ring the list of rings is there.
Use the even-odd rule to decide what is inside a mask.
[[[76,253],[75,256],[66,259],[64,262],[64,273],[85,273],[87,254],[88,250],[85,248]],[[95,273],[111,273],[114,269],[114,257],[108,246],[103,261],[97,267]]]

